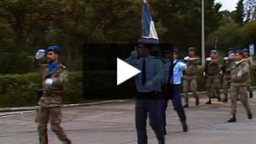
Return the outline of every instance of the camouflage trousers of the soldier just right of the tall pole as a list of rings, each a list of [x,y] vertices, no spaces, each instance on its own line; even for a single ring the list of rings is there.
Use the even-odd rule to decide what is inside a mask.
[[[214,93],[220,96],[220,76],[207,76],[207,93],[208,97],[212,97]]]

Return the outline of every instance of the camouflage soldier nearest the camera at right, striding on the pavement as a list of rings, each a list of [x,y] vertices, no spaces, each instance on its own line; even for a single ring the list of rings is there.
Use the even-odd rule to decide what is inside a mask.
[[[246,113],[248,119],[252,119],[253,115],[248,104],[248,91],[246,81],[249,78],[249,64],[243,60],[243,51],[238,50],[235,54],[235,63],[232,65],[231,71],[231,115],[227,121],[236,121],[236,100],[238,95],[240,95],[240,101],[242,102],[244,108],[246,108]]]

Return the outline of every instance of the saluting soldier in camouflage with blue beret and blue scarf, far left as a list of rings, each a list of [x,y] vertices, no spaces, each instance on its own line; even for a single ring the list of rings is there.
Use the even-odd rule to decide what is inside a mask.
[[[67,72],[65,66],[58,62],[59,46],[50,46],[36,52],[34,66],[43,77],[43,95],[38,101],[37,131],[40,144],[48,144],[47,127],[50,122],[51,129],[63,144],[70,144],[63,128],[62,121],[62,95]],[[39,62],[46,55],[49,64]]]

